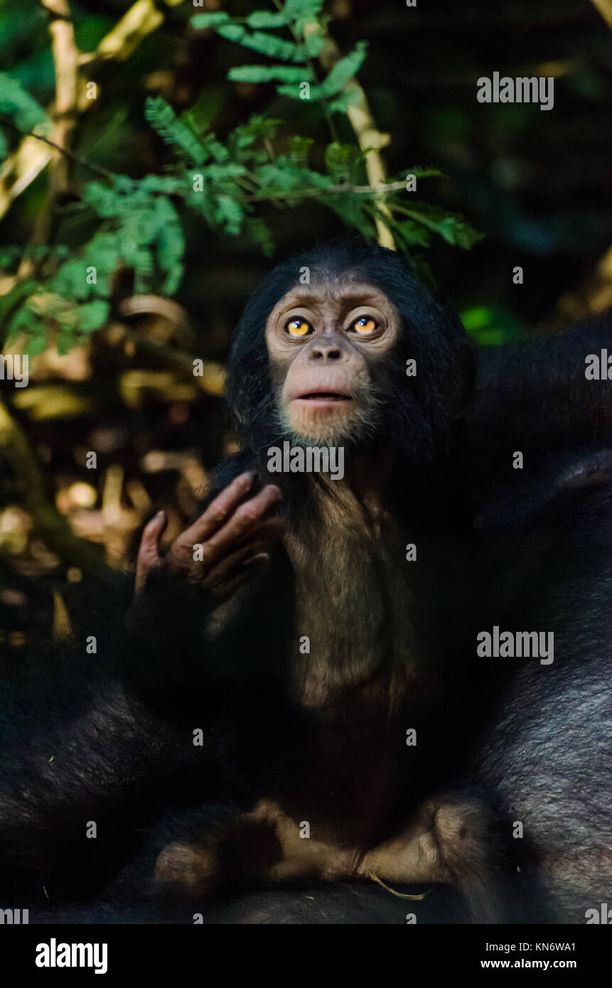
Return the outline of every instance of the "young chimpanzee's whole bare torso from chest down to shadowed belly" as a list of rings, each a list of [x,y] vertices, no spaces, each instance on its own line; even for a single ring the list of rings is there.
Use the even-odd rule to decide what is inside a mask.
[[[296,574],[292,692],[304,716],[275,798],[330,844],[367,847],[393,811],[409,710],[420,702],[403,540],[345,528],[325,533],[316,554],[286,545]]]

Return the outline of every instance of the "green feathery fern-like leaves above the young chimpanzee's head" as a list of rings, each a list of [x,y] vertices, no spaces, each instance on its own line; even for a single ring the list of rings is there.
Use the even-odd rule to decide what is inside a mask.
[[[230,69],[230,81],[273,83],[282,97],[316,101],[327,120],[346,114],[359,98],[353,80],[366,57],[366,42],[358,41],[325,74],[315,64],[326,41],[322,0],[286,0],[278,6],[245,18],[196,14],[192,24],[268,59]],[[23,333],[29,352],[36,354],[52,331],[59,351],[69,350],[108,320],[120,270],[131,272],[135,293],[174,294],[183,274],[185,209],[194,210],[219,236],[246,237],[267,255],[275,250],[262,215],[267,204],[318,204],[370,240],[377,238],[377,221],[382,221],[397,248],[406,252],[427,247],[433,235],[464,248],[480,238],[463,217],[417,202],[406,191],[406,175],[420,183],[439,175],[436,169],[407,168],[383,191],[373,190],[357,141],[328,143],[319,171],[310,167],[312,139],[280,136],[281,126],[286,129],[283,120],[255,116],[221,139],[201,123],[198,104],[178,116],[161,97],[149,97],[144,115],[171,151],[166,174],[139,180],[115,175],[83,187],[80,202],[71,208],[93,215],[95,232],[76,249],[62,243],[28,249],[36,274],[27,281],[17,277],[0,298],[0,342]],[[3,117],[23,132],[44,133],[49,125],[39,104],[15,79],[0,73],[0,151]],[[20,253],[17,248],[0,251],[0,266],[17,274]]]

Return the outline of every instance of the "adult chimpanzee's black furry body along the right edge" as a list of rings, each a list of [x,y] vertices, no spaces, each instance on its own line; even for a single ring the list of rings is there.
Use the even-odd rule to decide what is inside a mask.
[[[591,371],[608,353],[610,313],[482,355],[468,428],[490,617],[555,649],[482,660],[515,671],[475,775],[523,826],[541,917],[576,923],[612,891],[612,381]]]

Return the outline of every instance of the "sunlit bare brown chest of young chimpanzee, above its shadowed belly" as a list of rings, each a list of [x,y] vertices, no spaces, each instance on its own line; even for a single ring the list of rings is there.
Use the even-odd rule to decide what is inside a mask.
[[[389,715],[416,671],[412,591],[394,527],[345,525],[316,551],[291,538],[296,577],[295,699],[340,719]]]

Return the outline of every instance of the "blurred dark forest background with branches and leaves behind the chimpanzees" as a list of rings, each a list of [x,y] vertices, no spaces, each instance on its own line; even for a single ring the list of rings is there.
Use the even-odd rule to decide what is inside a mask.
[[[612,3],[293,10],[284,29],[245,20],[281,11],[267,0],[0,2],[0,351],[30,356],[27,387],[0,379],[4,672],[69,633],[75,609],[129,568],[154,510],[168,512],[169,536],[193,516],[233,448],[222,365],[249,293],[292,252],[347,229],[385,236],[384,203],[383,220],[340,207],[355,202],[342,182],[441,173],[417,179],[427,206],[391,235],[481,345],[561,331],[612,304]],[[233,20],[198,23],[211,14]],[[232,39],[238,22],[285,44],[313,25],[311,78],[339,66],[326,103],[279,92],[287,72],[240,74],[279,52],[286,66],[299,59],[275,41],[271,62],[238,29]],[[554,109],[480,104],[477,80],[495,71],[553,76]],[[359,132],[351,108],[364,107]],[[213,132],[219,144],[205,142]],[[306,143],[288,157],[296,136]],[[247,145],[261,150],[248,158]],[[221,174],[227,162],[248,174]],[[214,213],[190,187],[211,164]],[[321,195],[309,197],[317,176]],[[74,278],[92,263],[101,280],[87,294]]]

